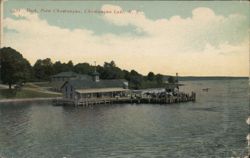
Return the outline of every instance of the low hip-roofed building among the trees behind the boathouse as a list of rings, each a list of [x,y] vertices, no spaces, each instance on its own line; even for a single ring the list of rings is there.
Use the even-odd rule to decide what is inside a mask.
[[[51,77],[51,81],[52,82],[68,81],[70,79],[86,79],[86,80],[91,80],[91,76],[77,74],[77,73],[75,73],[73,71],[68,71],[68,72],[61,72],[61,73],[53,75]]]

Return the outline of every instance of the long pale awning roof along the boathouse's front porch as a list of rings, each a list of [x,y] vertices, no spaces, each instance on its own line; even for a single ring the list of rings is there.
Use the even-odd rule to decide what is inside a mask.
[[[123,89],[123,88],[92,88],[92,89],[79,89],[76,90],[76,92],[85,94],[85,93],[121,92],[127,90],[128,89]]]

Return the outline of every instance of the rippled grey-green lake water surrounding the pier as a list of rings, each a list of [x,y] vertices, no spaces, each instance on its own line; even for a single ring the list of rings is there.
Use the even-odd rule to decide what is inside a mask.
[[[0,106],[1,158],[236,157],[247,152],[248,80],[185,81],[172,105]],[[210,88],[203,92],[202,88]]]

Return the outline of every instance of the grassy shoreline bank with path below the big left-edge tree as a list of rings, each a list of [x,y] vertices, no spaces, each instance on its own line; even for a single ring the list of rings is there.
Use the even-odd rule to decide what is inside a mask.
[[[0,89],[0,99],[20,99],[20,98],[52,98],[59,97],[58,94],[42,93],[33,90],[21,89]]]

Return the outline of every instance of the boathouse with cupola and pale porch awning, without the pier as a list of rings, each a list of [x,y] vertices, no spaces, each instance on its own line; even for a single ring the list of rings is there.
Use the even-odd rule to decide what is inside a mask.
[[[118,97],[128,91],[126,80],[100,80],[97,72],[93,73],[92,80],[74,79],[66,81],[61,87],[66,99],[96,99],[104,97]]]

